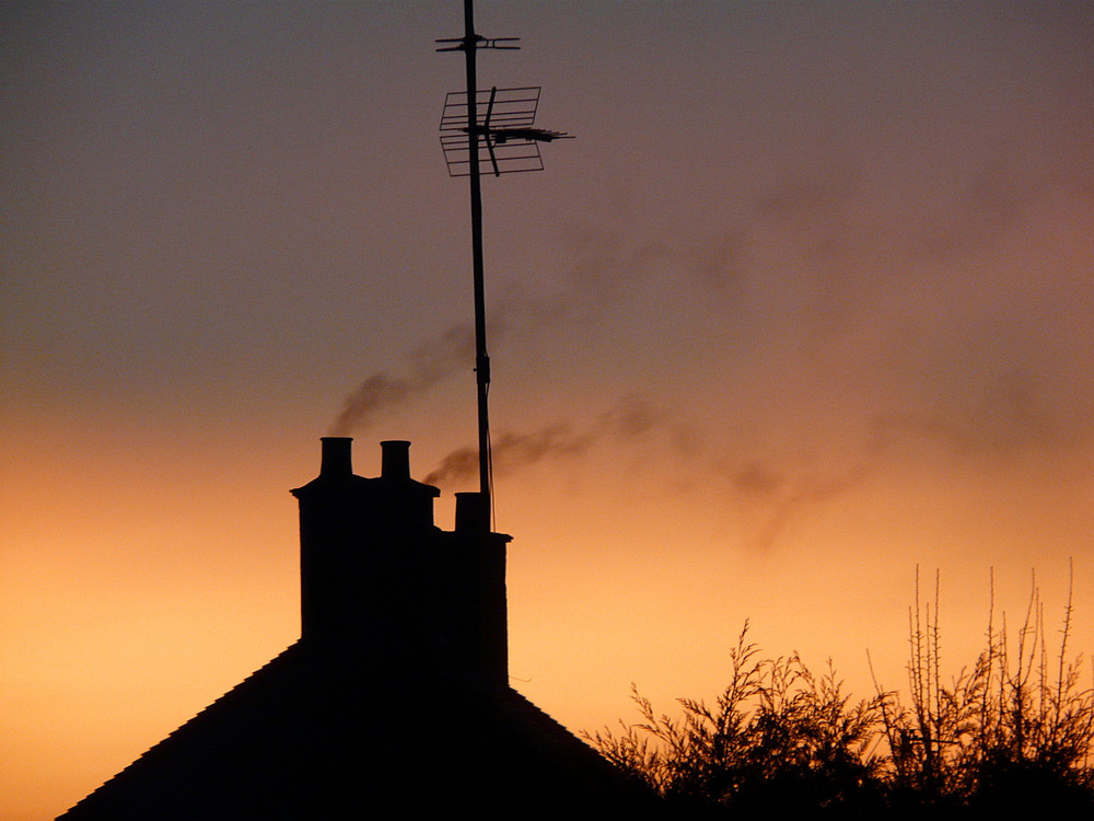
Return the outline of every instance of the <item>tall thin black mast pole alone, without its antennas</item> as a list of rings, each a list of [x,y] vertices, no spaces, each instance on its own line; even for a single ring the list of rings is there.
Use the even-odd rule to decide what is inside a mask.
[[[490,414],[487,397],[490,393],[490,357],[486,349],[486,286],[482,275],[482,185],[479,176],[479,129],[476,100],[478,85],[475,76],[475,53],[478,50],[479,35],[475,33],[473,0],[464,0],[464,43],[467,58],[467,150],[470,160],[472,189],[472,258],[475,277],[475,377],[478,388],[478,438],[479,438],[479,493],[486,499],[484,506],[492,511],[490,482]],[[488,521],[492,516],[488,518]]]

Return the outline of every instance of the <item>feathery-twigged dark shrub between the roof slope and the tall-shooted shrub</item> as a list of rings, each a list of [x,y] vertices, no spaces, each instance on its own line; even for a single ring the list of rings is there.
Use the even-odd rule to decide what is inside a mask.
[[[796,655],[760,658],[746,633],[747,624],[730,654],[730,684],[713,706],[682,698],[682,717],[657,716],[635,690],[640,724],[585,738],[682,808],[713,805],[747,816],[778,807],[846,818],[878,806],[875,706],[851,704],[830,669],[816,678]]]

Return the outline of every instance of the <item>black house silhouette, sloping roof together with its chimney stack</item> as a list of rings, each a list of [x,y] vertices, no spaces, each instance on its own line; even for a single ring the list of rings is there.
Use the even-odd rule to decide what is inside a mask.
[[[475,494],[456,530],[410,478],[327,437],[301,510],[303,637],[84,798],[66,819],[582,818],[636,788],[508,686],[505,544]]]

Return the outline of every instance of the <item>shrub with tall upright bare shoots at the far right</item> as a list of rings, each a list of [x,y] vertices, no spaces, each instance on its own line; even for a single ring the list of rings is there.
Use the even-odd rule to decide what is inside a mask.
[[[1035,583],[1014,654],[1005,614],[997,629],[992,604],[987,648],[950,686],[940,675],[938,610],[938,580],[932,617],[930,605],[920,603],[917,578],[909,612],[910,707],[878,687],[891,800],[1014,810],[1052,795],[1094,808],[1094,691],[1080,687],[1079,662],[1067,659],[1070,592],[1055,674]]]

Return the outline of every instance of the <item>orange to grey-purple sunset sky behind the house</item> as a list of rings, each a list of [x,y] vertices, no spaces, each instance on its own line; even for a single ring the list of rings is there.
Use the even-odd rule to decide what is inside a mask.
[[[1094,5],[488,2],[577,135],[484,181],[513,685],[572,730],[749,635],[943,674],[1031,574],[1094,650]],[[475,441],[462,3],[0,5],[0,818],[291,644],[296,506]]]

